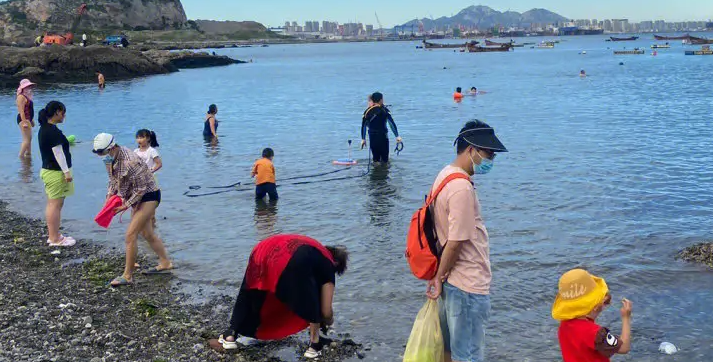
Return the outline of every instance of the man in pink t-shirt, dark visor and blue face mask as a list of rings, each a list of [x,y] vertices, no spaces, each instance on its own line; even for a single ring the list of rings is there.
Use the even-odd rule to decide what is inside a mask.
[[[433,183],[432,190],[453,173],[484,175],[493,168],[496,152],[507,152],[493,128],[471,121],[455,140],[458,155]],[[449,182],[432,204],[441,259],[427,294],[441,298],[441,329],[446,362],[482,362],[484,324],[490,317],[490,245],[473,183]]]

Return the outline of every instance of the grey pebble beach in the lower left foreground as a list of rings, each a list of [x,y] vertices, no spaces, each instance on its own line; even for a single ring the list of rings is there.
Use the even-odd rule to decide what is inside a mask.
[[[302,360],[306,334],[218,353],[208,339],[225,328],[233,297],[189,304],[167,276],[137,276],[134,286],[113,290],[107,282],[123,269],[121,250],[87,240],[52,249],[46,238],[41,220],[0,202],[0,361]],[[348,336],[335,337],[320,361],[364,357]]]

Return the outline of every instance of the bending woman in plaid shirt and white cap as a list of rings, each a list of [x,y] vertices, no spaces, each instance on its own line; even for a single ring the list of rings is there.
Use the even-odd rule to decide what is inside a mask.
[[[92,152],[100,157],[109,156],[111,169],[109,173],[109,189],[107,199],[118,195],[123,205],[114,212],[122,213],[131,208],[131,222],[126,230],[126,265],[124,273],[111,281],[112,287],[134,284],[134,269],[138,247],[138,236],[146,239],[151,249],[159,258],[158,266],[146,270],[143,274],[158,275],[168,274],[173,269],[173,264],[168,258],[168,253],[163,241],[154,233],[151,219],[156,215],[156,208],[161,203],[161,189],[159,189],[148,166],[126,147],[121,147],[114,141],[114,136],[100,133],[94,138]]]

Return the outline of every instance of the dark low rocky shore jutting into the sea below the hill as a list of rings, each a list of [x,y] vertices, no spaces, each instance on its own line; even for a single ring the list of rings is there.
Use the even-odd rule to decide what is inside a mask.
[[[98,70],[108,80],[177,72],[185,68],[225,66],[244,61],[207,52],[139,51],[107,46],[0,47],[0,87],[23,78],[39,84],[96,82]]]

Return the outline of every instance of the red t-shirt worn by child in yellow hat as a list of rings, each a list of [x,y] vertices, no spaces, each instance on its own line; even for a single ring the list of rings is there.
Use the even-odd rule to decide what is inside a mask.
[[[591,319],[560,323],[558,331],[564,362],[609,362],[619,352],[619,337]]]

